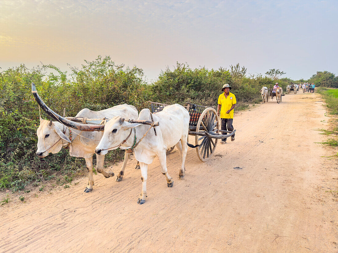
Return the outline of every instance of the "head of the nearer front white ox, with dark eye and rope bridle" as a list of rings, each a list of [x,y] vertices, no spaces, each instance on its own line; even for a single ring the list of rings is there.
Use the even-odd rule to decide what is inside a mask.
[[[109,120],[105,127],[103,136],[100,140],[100,143],[95,148],[95,153],[104,155],[108,150],[117,149],[124,140],[128,138],[130,130],[135,128],[140,123],[129,123],[121,117],[114,117]],[[130,138],[124,143],[124,147],[130,148],[134,141],[134,135],[130,135]]]

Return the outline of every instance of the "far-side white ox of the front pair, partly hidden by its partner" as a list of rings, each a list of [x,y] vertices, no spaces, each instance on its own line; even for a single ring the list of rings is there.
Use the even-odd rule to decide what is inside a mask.
[[[82,109],[76,117],[87,118],[113,118],[116,116],[122,116],[125,118],[136,119],[138,117],[137,109],[131,105],[118,105],[109,109],[101,111],[91,111],[87,108]],[[79,136],[79,134],[81,136]],[[46,157],[49,153],[59,152],[63,146],[69,146],[69,154],[72,157],[83,157],[86,160],[86,166],[89,172],[88,186],[84,190],[85,192],[91,192],[93,190],[93,154],[95,148],[103,132],[81,132],[79,130],[69,130],[62,123],[57,121],[49,121],[40,118],[40,126],[37,131],[38,135],[38,157]],[[71,137],[70,137],[71,136]],[[82,137],[83,136],[83,137]],[[68,145],[69,144],[69,145]],[[124,154],[124,163],[121,171],[116,178],[116,181],[121,181],[124,174],[124,168],[127,164],[130,153]],[[96,170],[105,177],[114,176],[112,172],[106,172],[103,169],[104,156],[96,155]]]

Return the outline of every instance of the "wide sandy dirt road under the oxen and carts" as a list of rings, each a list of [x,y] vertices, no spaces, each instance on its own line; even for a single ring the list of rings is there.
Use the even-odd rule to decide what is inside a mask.
[[[81,178],[6,204],[0,252],[338,252],[338,202],[327,192],[338,166],[315,144],[325,139],[315,131],[327,126],[322,104],[298,93],[235,114],[236,140],[206,163],[190,148],[184,180],[178,152],[168,155],[173,188],[155,160],[143,205],[135,160],[121,182],[94,175],[91,193]]]

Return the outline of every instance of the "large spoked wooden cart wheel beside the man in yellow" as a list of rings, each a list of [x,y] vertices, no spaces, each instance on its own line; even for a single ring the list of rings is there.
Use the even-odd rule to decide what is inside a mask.
[[[202,126],[201,130],[200,126]],[[218,134],[219,129],[220,120],[216,110],[211,107],[206,108],[197,121],[196,132],[203,133],[207,131]],[[218,139],[209,138],[208,136],[195,135],[195,145],[200,145],[196,147],[199,160],[206,162],[212,157],[217,146],[217,141]]]

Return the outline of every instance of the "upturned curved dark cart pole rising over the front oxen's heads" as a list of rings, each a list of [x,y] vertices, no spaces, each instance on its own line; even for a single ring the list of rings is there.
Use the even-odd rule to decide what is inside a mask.
[[[69,119],[66,119],[60,115],[58,115],[56,112],[52,111],[45,102],[42,101],[41,97],[39,96],[35,84],[32,83],[32,94],[34,96],[35,101],[38,102],[39,106],[41,106],[42,110],[44,110],[52,119],[55,119],[58,122],[63,123],[64,125],[74,128],[80,131],[87,131],[87,132],[93,132],[93,131],[104,131],[104,125],[91,125],[91,124],[80,124],[74,121],[71,121]]]

